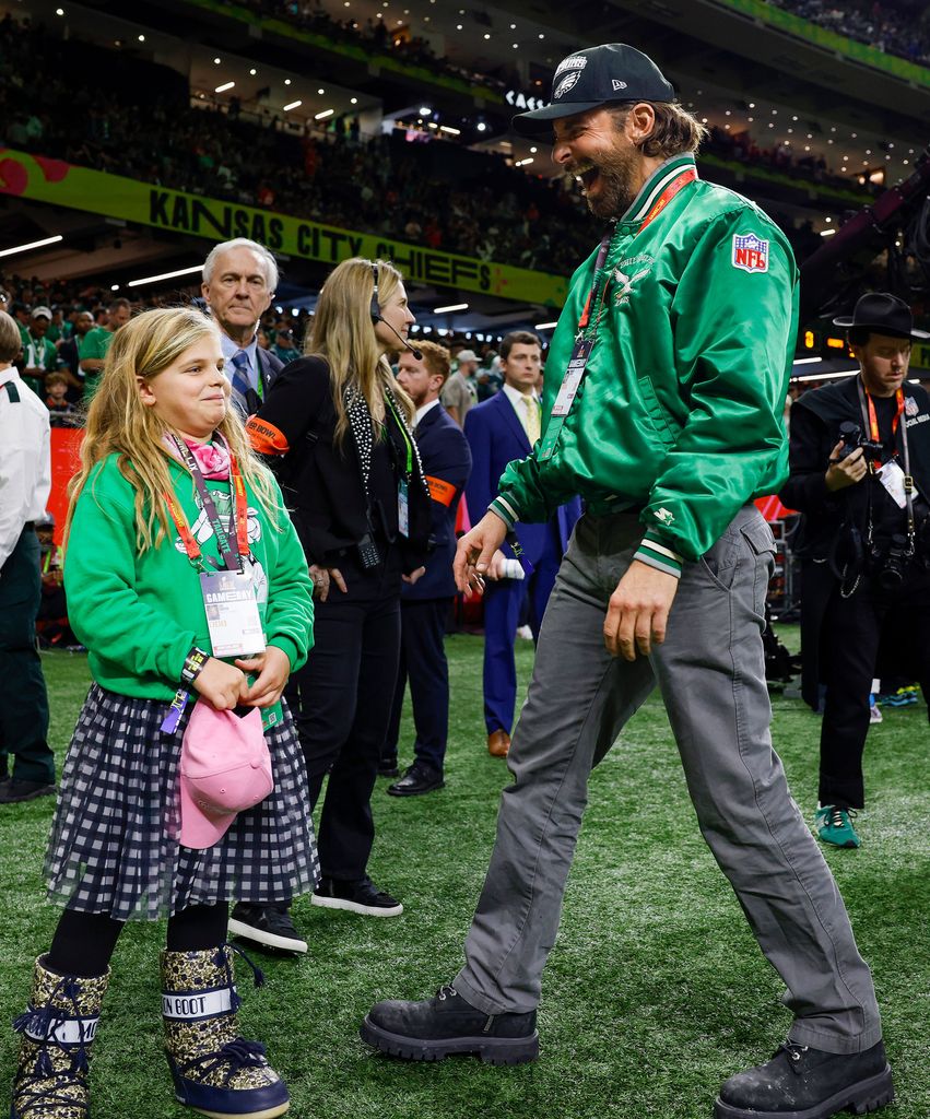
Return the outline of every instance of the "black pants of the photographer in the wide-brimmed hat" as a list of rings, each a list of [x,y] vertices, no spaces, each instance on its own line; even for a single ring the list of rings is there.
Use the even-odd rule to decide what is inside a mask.
[[[824,615],[820,649],[826,684],[820,731],[821,805],[862,808],[862,755],[868,733],[868,693],[879,646],[887,630],[901,658],[913,666],[930,696],[930,574],[915,570],[894,592],[863,579],[844,599],[834,591]]]

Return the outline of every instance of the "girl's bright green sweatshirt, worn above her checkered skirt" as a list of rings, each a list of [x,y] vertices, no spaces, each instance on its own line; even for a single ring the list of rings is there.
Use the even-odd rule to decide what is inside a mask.
[[[68,620],[87,646],[91,671],[102,688],[145,699],[171,699],[192,646],[210,650],[197,571],[173,530],[139,555],[132,486],[111,454],[85,485],[65,555]],[[179,463],[169,467],[175,493],[205,556],[218,560],[216,537],[203,513],[194,480]],[[231,513],[229,482],[207,481],[223,524]],[[312,585],[303,548],[284,511],[276,521],[248,489],[245,570],[255,584],[267,645],[282,649],[291,670],[313,645]],[[233,659],[233,658],[227,658]],[[280,718],[280,707],[270,714]],[[275,722],[266,718],[266,724]]]

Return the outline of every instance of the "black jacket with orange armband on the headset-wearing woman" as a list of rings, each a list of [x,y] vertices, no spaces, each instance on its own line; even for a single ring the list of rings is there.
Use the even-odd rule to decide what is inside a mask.
[[[329,366],[310,357],[284,366],[248,422],[256,449],[278,457],[272,464],[308,561],[338,567],[346,556],[355,558],[370,511],[376,539],[396,542],[403,570],[415,570],[426,560],[431,527],[417,455],[408,487],[410,534],[404,538],[397,532],[397,488],[406,468],[406,443],[397,420],[388,408],[385,439],[372,457],[369,510],[355,440],[349,431],[341,446],[335,444],[336,419]]]

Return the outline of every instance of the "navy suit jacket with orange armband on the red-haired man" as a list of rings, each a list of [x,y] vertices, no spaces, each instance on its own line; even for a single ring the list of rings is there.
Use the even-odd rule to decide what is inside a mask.
[[[471,451],[461,427],[441,404],[430,408],[416,425],[416,445],[432,497],[432,551],[426,571],[402,595],[408,600],[451,599],[455,594],[455,514],[471,473]]]

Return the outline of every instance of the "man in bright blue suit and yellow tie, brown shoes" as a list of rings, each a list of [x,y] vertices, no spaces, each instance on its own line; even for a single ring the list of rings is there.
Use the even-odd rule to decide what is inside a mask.
[[[466,489],[469,515],[480,519],[497,496],[497,483],[513,459],[525,459],[539,438],[541,402],[537,392],[542,348],[529,331],[514,331],[500,344],[501,391],[476,405],[466,419],[464,433],[475,469]],[[534,640],[555,583],[569,537],[581,516],[573,498],[542,525],[520,524],[517,540],[528,566],[527,581],[506,577],[513,558],[509,547],[499,552],[488,571],[485,590],[485,725],[488,753],[506,758],[517,700],[514,641],[524,595],[529,598],[529,626]]]

